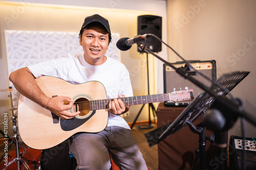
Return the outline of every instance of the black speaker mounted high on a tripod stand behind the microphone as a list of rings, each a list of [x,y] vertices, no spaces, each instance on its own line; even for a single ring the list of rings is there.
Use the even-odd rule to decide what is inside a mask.
[[[143,34],[154,34],[162,39],[162,17],[155,15],[138,16],[138,35]],[[153,52],[162,51],[162,43],[154,37],[147,38],[144,44]],[[138,52],[143,53],[139,48]]]

